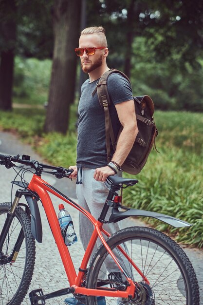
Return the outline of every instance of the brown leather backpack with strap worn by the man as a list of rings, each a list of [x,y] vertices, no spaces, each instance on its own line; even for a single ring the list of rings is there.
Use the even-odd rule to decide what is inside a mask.
[[[121,74],[130,83],[128,76],[126,76],[123,72],[116,69],[111,69],[100,77],[99,81],[97,82],[97,86],[92,93],[93,95],[97,91],[100,105],[104,108],[105,112],[106,148],[108,162],[111,161],[111,143],[113,150],[115,151],[117,139],[123,129],[121,126],[117,139],[115,139],[109,113],[109,105],[111,104],[111,100],[107,89],[108,77],[112,73]],[[124,172],[136,175],[143,169],[147,162],[148,155],[151,152],[153,144],[155,144],[155,137],[158,134],[158,130],[153,120],[154,104],[151,97],[148,95],[133,96],[133,99],[139,133],[137,134],[133,147],[121,168]]]

